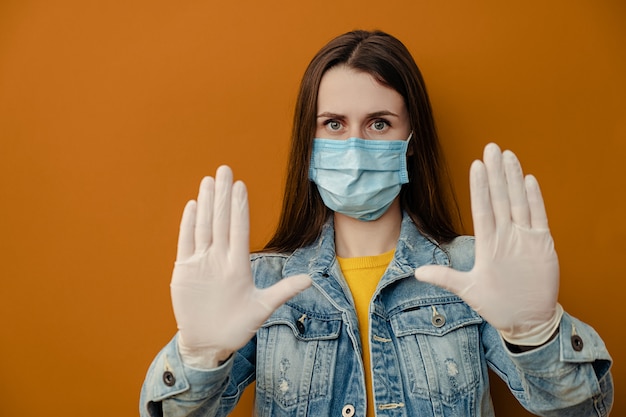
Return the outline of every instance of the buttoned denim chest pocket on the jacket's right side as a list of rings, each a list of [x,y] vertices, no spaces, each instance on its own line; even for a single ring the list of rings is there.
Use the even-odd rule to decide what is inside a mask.
[[[482,318],[459,301],[407,306],[390,319],[410,391],[447,405],[467,403],[481,381]]]

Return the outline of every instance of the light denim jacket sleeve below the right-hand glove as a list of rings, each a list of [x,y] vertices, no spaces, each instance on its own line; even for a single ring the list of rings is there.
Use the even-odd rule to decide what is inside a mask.
[[[483,344],[491,369],[530,412],[549,417],[608,416],[613,404],[612,360],[591,326],[565,313],[558,337],[514,354],[486,324]]]

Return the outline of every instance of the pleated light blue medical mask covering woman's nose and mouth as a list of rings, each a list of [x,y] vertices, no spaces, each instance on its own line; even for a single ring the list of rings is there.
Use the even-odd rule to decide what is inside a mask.
[[[358,220],[382,216],[409,182],[411,140],[313,139],[309,179],[329,209]]]

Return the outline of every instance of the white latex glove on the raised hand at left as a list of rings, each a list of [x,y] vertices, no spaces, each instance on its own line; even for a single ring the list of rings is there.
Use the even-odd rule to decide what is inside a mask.
[[[248,195],[229,167],[205,177],[183,212],[170,285],[183,360],[212,368],[245,345],[307,275],[258,289],[250,267]]]

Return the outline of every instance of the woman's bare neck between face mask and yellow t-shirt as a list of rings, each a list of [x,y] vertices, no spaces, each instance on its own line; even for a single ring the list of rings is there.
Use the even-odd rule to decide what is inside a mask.
[[[396,198],[380,218],[365,222],[335,213],[335,250],[342,258],[374,256],[396,247],[400,237],[402,210]]]

